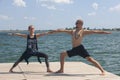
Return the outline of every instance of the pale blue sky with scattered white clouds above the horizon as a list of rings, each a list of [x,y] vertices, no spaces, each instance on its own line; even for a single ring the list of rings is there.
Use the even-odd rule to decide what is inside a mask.
[[[0,0],[0,30],[120,28],[120,0]]]

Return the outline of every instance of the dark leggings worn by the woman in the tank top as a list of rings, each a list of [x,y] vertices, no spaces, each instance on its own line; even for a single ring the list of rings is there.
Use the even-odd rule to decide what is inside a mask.
[[[37,57],[42,57],[45,58],[45,63],[46,63],[46,67],[49,67],[49,63],[48,63],[48,56],[45,53],[42,52],[35,52],[35,53],[31,53],[28,51],[25,51],[22,56],[14,63],[14,65],[12,66],[13,68],[16,67],[21,61],[29,59],[32,56],[37,56]]]

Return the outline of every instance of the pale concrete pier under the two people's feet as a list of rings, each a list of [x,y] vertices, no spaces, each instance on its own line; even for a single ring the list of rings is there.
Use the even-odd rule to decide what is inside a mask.
[[[65,62],[64,73],[54,73],[60,67],[59,62],[50,62],[53,73],[46,72],[45,63],[22,62],[14,68],[14,73],[9,69],[13,63],[0,63],[0,80],[120,80],[120,76],[106,71],[106,75],[94,66],[82,62]]]

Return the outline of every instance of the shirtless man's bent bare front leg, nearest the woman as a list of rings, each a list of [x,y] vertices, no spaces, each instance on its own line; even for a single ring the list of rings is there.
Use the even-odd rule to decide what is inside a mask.
[[[60,69],[56,73],[63,73],[64,72],[64,60],[67,56],[66,52],[60,54]]]

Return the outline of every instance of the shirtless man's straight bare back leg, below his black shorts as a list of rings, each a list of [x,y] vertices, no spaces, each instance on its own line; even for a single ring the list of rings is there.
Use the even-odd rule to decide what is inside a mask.
[[[99,64],[98,61],[96,61],[95,59],[93,59],[92,57],[86,57],[86,59],[93,63],[101,72],[102,72],[102,75],[105,75],[105,71],[104,69],[102,68],[102,66]]]

